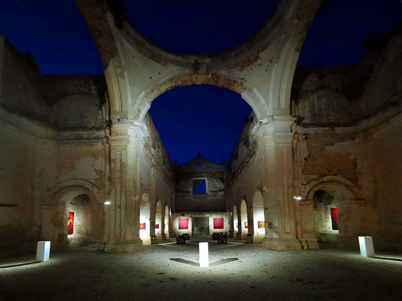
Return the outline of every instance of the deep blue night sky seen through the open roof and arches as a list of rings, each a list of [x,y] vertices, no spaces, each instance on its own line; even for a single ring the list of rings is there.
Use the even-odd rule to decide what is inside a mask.
[[[124,1],[134,27],[152,42],[181,53],[214,53],[249,38],[276,1]],[[298,65],[357,63],[370,32],[392,30],[402,16],[399,0],[328,0],[318,13]],[[44,74],[102,73],[86,24],[73,0],[2,0],[0,34],[31,53]],[[240,95],[200,85],[172,89],[150,112],[171,160],[197,153],[230,159],[251,108]]]

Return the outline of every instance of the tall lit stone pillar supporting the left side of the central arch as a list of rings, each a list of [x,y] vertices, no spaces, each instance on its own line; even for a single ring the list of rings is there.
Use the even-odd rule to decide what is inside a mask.
[[[110,206],[106,210],[106,251],[133,251],[139,238],[138,155],[142,150],[141,126],[125,121],[114,125],[110,143]]]

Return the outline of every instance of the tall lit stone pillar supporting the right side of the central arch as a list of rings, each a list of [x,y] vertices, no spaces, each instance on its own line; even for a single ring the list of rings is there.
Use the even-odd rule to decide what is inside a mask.
[[[291,116],[274,116],[258,130],[259,152],[265,154],[265,179],[269,222],[262,247],[272,250],[299,250],[293,199]]]

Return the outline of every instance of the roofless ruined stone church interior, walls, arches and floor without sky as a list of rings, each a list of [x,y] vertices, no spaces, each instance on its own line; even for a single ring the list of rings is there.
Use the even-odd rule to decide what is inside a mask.
[[[148,40],[127,3],[75,0],[102,74],[43,74],[0,36],[0,258],[19,262],[38,241],[51,242],[49,262],[0,265],[0,300],[64,300],[69,292],[90,300],[137,299],[136,292],[172,300],[194,292],[194,300],[211,292],[224,300],[330,300],[342,292],[397,300],[401,23],[368,36],[359,62],[311,67],[297,65],[299,54],[330,0],[273,2],[248,39],[207,54]],[[228,160],[197,152],[177,162],[168,154],[149,110],[190,85],[226,88],[250,106]],[[217,232],[227,233],[227,244],[211,240]],[[176,245],[182,234],[189,241]],[[360,257],[359,236],[388,255]],[[209,241],[216,260],[209,269],[197,266],[197,241]],[[80,284],[60,284],[61,267]],[[90,283],[84,269],[93,271]],[[60,281],[50,294],[26,278],[44,274]],[[104,274],[120,286],[104,289]],[[355,290],[355,274],[366,291]],[[372,286],[375,278],[387,283]]]

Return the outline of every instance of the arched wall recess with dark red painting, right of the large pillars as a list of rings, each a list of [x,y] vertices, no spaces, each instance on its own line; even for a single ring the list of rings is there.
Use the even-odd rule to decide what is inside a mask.
[[[360,207],[352,190],[337,182],[319,183],[309,190],[313,207],[314,235],[320,248],[337,246],[339,237],[352,236],[359,219],[353,212]]]

